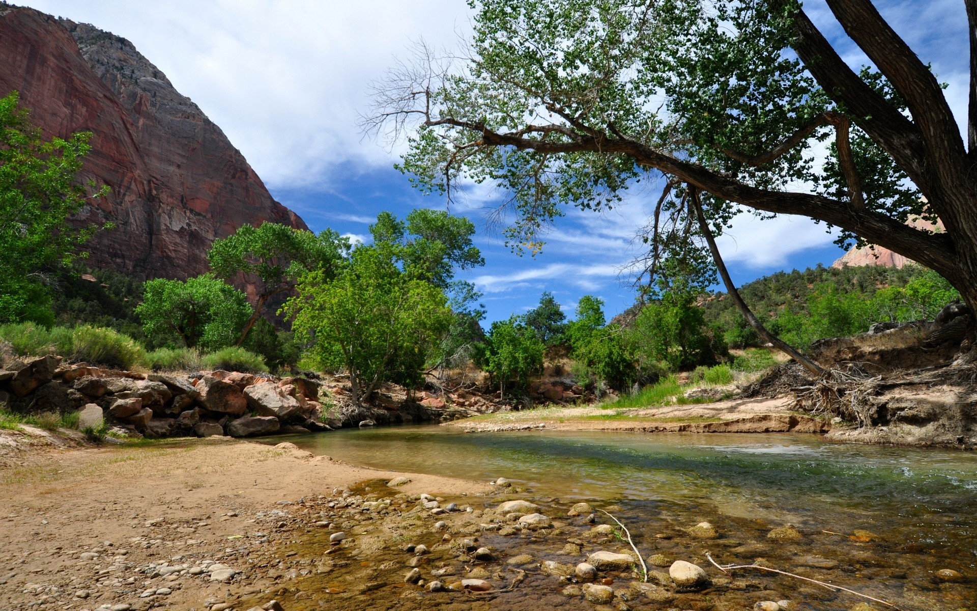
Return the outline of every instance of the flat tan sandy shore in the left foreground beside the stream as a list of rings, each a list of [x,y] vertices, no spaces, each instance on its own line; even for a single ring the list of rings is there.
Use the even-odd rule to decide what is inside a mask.
[[[16,437],[4,433],[8,442]],[[37,435],[34,446],[51,446],[38,443]],[[289,532],[315,528],[315,518],[304,515],[312,509],[299,500],[403,475],[314,457],[287,443],[192,440],[39,453],[24,452],[22,442],[23,436],[17,453],[9,452],[8,443],[0,463],[4,610],[38,603],[42,609],[213,609],[221,602],[234,606],[242,595],[260,598],[268,584],[237,546],[263,535],[258,543],[268,557],[288,543]],[[430,475],[409,479],[399,492],[456,496],[488,488]],[[282,512],[279,523],[269,523],[274,510]],[[265,518],[256,519],[259,514]],[[205,559],[241,575],[230,584],[211,583],[206,575],[170,581],[147,569],[150,563],[195,565]],[[169,591],[141,597],[152,589]]]

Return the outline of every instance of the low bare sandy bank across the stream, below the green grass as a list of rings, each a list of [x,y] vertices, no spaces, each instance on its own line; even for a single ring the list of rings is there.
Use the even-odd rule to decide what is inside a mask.
[[[815,433],[831,423],[789,409],[788,398],[733,399],[714,403],[672,404],[657,408],[619,409],[596,404],[499,412],[446,422],[468,432],[511,430],[601,430],[646,433]]]

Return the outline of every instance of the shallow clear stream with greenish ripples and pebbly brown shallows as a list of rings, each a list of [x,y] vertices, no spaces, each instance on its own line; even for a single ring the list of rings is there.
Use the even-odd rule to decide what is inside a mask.
[[[977,609],[977,456],[968,453],[840,445],[801,435],[461,433],[445,426],[343,430],[289,441],[315,454],[377,468],[484,481],[505,477],[514,481],[515,490],[525,489],[522,498],[538,502],[544,513],[568,525],[554,541],[541,532],[509,538],[485,533],[483,541],[500,556],[529,552],[539,560],[578,562],[561,557],[559,550],[566,540],[586,535],[583,517],[568,518],[566,512],[573,502],[587,501],[613,508],[646,557],[690,560],[708,568],[710,577],[725,576],[709,565],[706,551],[720,563],[757,561],[857,589],[906,610]],[[494,502],[490,497],[479,502],[486,501],[486,506]],[[714,526],[718,539],[691,536],[687,529],[702,521]],[[786,524],[802,539],[768,537]],[[584,553],[622,546],[621,541],[585,537],[582,545]],[[956,571],[960,579],[941,579],[938,571],[944,569]],[[614,588],[633,581],[630,575],[611,577],[617,580]],[[732,579],[727,587],[678,592],[669,600],[639,593],[626,604],[632,609],[723,611],[787,599],[795,601],[796,609],[847,611],[862,601],[756,570],[738,571]],[[522,587],[518,600],[594,608],[582,598],[559,596],[566,580],[538,576],[527,583],[534,587]],[[503,594],[494,608],[523,607],[514,594]],[[406,602],[403,588],[398,595],[401,602],[389,608]],[[431,597],[418,608],[459,602],[416,596]],[[464,608],[479,606],[473,605]],[[379,597],[369,607],[388,608]],[[873,608],[886,607],[875,603]]]

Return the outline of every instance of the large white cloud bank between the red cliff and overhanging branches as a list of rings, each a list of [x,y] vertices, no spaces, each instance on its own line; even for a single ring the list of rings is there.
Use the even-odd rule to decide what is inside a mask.
[[[271,187],[322,185],[330,165],[389,165],[361,138],[367,83],[411,39],[453,45],[464,0],[21,0],[124,36],[218,125]]]

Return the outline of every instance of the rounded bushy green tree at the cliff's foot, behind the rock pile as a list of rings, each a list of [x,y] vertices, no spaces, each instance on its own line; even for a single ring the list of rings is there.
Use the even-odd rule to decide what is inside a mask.
[[[150,280],[136,314],[154,345],[179,341],[188,348],[217,350],[234,345],[252,310],[247,295],[204,274],[186,282]]]

